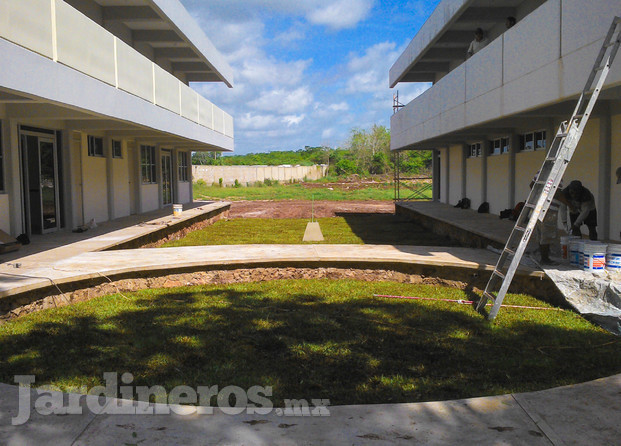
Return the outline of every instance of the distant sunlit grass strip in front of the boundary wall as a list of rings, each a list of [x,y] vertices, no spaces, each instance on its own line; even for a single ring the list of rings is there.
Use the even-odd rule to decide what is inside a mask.
[[[373,185],[356,190],[305,188],[301,184],[274,186],[218,187],[194,183],[195,200],[392,200],[391,185]]]

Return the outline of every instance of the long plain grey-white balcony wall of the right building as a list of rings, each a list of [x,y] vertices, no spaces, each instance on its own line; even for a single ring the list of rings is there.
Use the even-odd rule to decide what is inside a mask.
[[[464,2],[448,3],[454,6],[451,14],[463,10]],[[468,129],[483,124],[510,127],[515,117],[577,97],[620,11],[621,1],[546,1],[393,115],[392,149],[433,148],[449,140],[467,139]],[[437,32],[441,28],[434,25]],[[432,36],[424,37],[434,41]],[[435,38],[439,41],[442,36]],[[424,46],[414,45],[417,39],[410,53],[395,64],[391,78],[407,81],[407,76],[414,77],[416,73],[407,72],[413,64],[406,61],[420,58],[411,53]],[[431,43],[420,49],[432,50]],[[612,87],[621,84],[620,59],[606,81],[603,99],[618,96]]]

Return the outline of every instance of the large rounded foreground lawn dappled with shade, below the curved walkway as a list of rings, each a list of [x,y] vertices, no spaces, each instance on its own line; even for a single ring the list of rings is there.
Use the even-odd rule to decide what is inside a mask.
[[[0,326],[0,382],[273,386],[272,401],[414,402],[545,389],[621,371],[621,339],[569,311],[374,298],[453,299],[459,290],[390,282],[274,281],[145,290]],[[546,306],[510,295],[507,303]]]

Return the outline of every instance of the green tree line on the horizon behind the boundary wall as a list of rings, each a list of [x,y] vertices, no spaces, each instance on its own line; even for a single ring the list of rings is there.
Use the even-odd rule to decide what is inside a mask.
[[[222,156],[216,152],[195,152],[192,164],[195,165],[265,165],[283,164],[310,166],[327,164],[329,175],[384,175],[394,171],[395,157],[390,151],[390,131],[380,125],[370,129],[353,129],[342,147],[310,147],[296,151],[272,151],[250,153],[247,155]],[[408,174],[425,174],[431,169],[431,151],[409,150],[402,152],[400,170]]]

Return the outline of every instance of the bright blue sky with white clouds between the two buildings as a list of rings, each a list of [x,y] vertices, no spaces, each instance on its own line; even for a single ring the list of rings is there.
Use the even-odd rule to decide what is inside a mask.
[[[389,126],[388,70],[439,0],[181,0],[235,87],[194,84],[235,118],[235,152],[343,145]],[[397,86],[402,102],[425,84]]]

